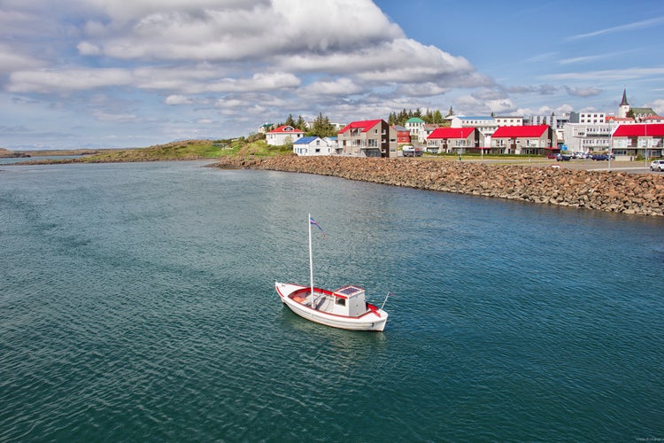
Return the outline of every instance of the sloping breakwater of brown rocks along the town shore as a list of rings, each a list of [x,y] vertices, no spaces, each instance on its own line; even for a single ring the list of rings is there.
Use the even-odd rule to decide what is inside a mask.
[[[334,175],[363,182],[442,190],[623,214],[664,215],[664,175],[492,165],[439,159],[349,157],[230,158],[221,168]]]

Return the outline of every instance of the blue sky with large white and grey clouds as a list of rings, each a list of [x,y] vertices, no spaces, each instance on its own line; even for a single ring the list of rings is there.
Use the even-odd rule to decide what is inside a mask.
[[[349,122],[664,113],[664,2],[0,0],[0,147],[142,147]]]

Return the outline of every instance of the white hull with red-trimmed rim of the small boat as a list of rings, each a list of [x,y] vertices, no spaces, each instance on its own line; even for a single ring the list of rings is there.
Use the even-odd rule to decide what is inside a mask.
[[[294,292],[308,289],[307,286],[302,286],[300,284],[283,284],[277,282],[274,284],[274,288],[276,289],[277,294],[279,294],[279,298],[282,299],[282,302],[287,307],[289,307],[291,311],[314,323],[320,323],[326,326],[344,330],[380,331],[385,329],[385,323],[387,323],[388,314],[377,307],[371,306],[372,309],[368,309],[367,313],[357,317],[328,314],[318,309],[314,309],[313,307],[306,306],[303,303],[290,298]],[[314,292],[332,294],[332,292],[320,288],[314,288]]]

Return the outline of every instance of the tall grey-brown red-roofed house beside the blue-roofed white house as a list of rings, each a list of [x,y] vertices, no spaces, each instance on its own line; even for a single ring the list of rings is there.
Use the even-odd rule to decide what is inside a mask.
[[[353,121],[339,131],[337,143],[344,155],[397,156],[397,130],[385,120]]]

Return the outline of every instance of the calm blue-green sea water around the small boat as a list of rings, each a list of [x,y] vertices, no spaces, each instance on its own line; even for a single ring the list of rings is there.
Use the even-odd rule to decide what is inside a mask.
[[[0,171],[1,441],[664,438],[664,220],[202,165]]]

